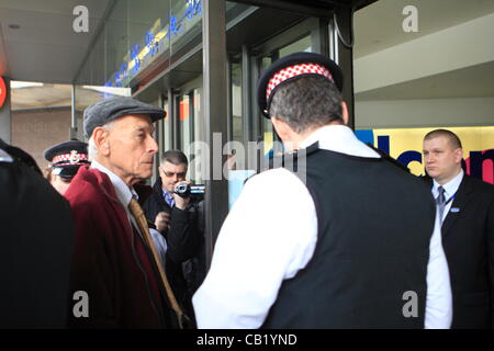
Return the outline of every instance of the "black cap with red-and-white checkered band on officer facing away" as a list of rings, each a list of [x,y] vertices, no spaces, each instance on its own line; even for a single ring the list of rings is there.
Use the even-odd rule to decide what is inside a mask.
[[[295,53],[274,61],[260,77],[257,101],[261,113],[269,118],[269,106],[278,88],[308,76],[322,76],[343,89],[343,72],[335,61],[314,53]]]

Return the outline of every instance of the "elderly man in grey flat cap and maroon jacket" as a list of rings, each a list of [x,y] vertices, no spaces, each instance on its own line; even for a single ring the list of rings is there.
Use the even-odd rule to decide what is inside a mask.
[[[81,168],[66,197],[76,223],[70,327],[175,328],[180,312],[162,272],[138,182],[153,173],[153,122],[165,112],[131,98],[85,111],[91,168]],[[77,294],[79,292],[79,294]],[[172,295],[172,293],[171,293]]]

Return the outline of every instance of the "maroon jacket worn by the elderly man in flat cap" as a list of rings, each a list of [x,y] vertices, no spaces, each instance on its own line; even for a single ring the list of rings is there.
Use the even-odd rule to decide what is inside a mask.
[[[70,296],[89,295],[89,317],[76,318],[69,306],[69,327],[170,327],[162,284],[137,230],[131,226],[110,178],[81,167],[65,194],[76,227]]]

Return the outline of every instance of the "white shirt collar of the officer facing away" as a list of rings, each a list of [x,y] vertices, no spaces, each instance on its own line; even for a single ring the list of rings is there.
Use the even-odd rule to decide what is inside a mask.
[[[346,125],[327,125],[321,127],[302,141],[300,147],[306,148],[316,141],[319,143],[321,149],[359,157],[381,157],[369,146],[360,141],[353,131]]]

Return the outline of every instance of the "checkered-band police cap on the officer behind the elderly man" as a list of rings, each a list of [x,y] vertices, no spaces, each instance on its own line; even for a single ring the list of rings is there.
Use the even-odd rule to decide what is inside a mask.
[[[53,174],[72,178],[79,167],[89,165],[88,144],[79,140],[60,143],[47,148],[44,157],[50,162]]]

